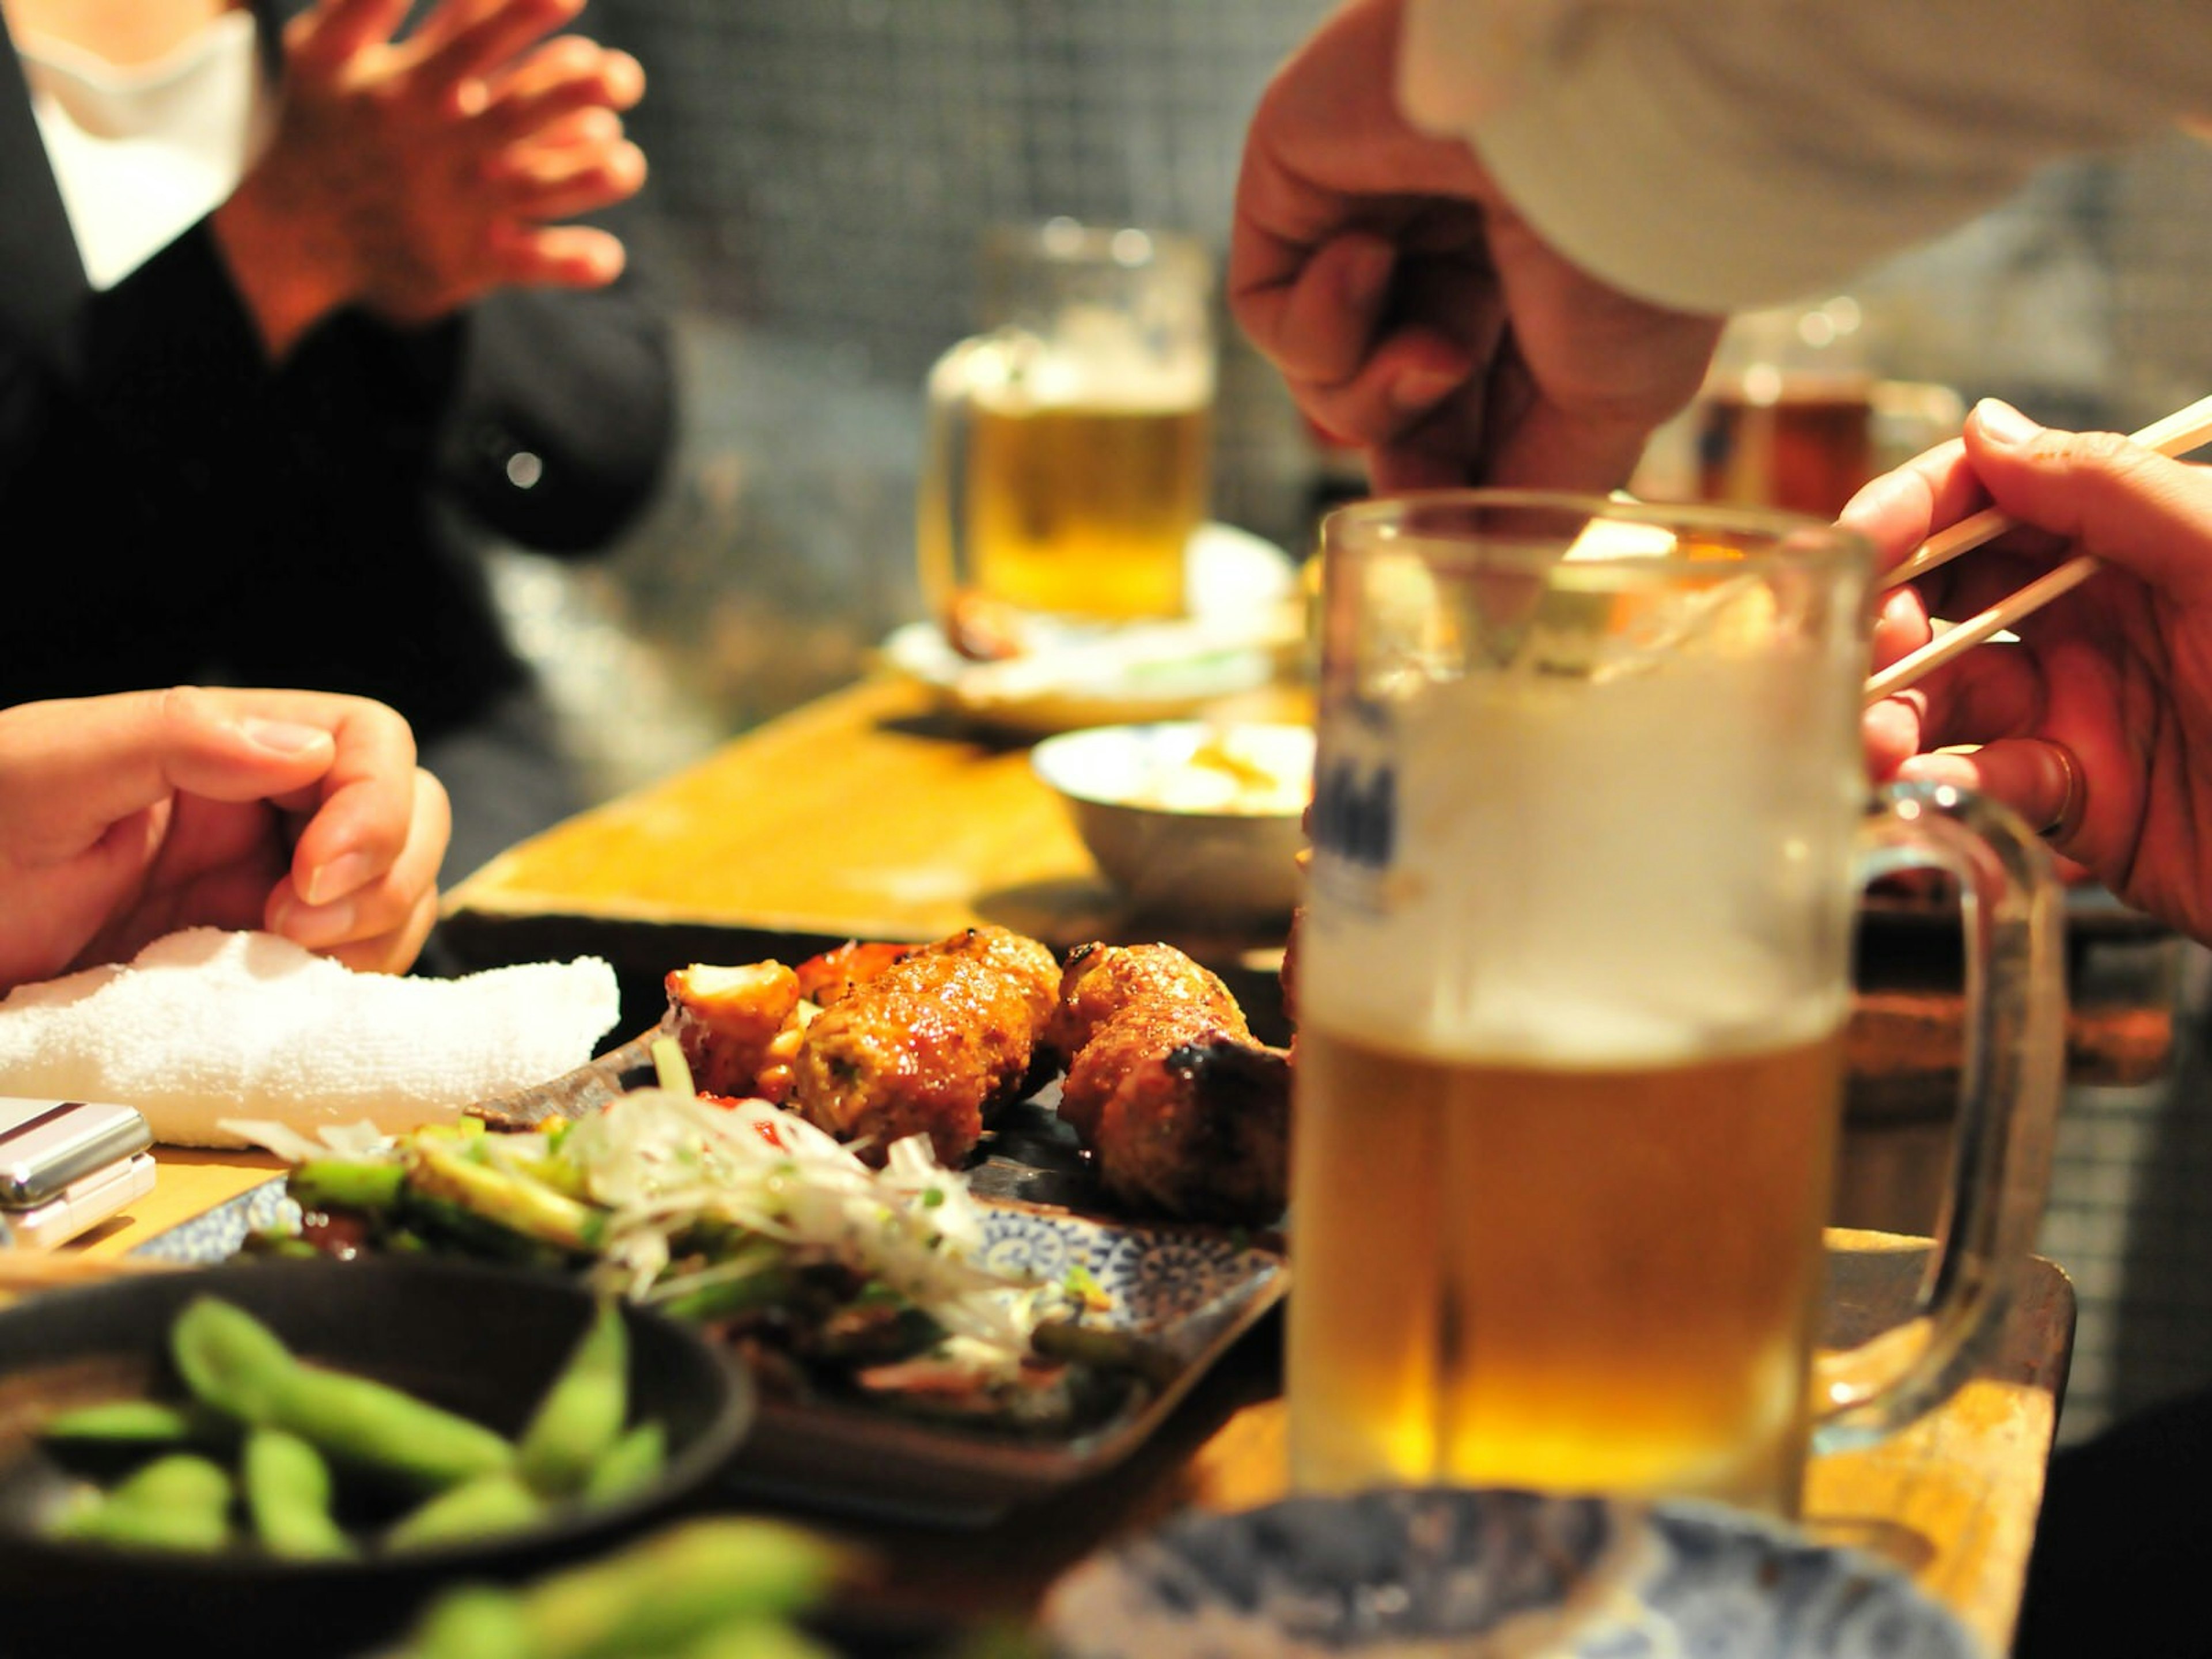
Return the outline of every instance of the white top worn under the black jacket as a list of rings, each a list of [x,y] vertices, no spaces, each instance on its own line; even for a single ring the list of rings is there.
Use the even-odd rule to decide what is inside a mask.
[[[93,288],[204,219],[268,139],[274,100],[250,11],[131,69],[40,35],[18,35],[15,55]]]

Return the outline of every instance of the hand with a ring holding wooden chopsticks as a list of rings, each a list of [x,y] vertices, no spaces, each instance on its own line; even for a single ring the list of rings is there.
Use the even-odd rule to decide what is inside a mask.
[[[2108,568],[1867,712],[1876,774],[2004,801],[2128,905],[2212,940],[2212,469],[1982,403],[1964,438],[1867,484],[1843,524],[1885,568],[1995,502],[2020,522],[1889,595],[1876,664],[2075,553]],[[1980,743],[1969,754],[1933,754]]]

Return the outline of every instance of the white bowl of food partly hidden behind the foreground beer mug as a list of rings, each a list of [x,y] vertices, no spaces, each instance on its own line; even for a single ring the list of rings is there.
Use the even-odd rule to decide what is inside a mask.
[[[1031,765],[1066,799],[1091,856],[1133,907],[1250,925],[1298,902],[1310,728],[1093,726],[1046,739]]]

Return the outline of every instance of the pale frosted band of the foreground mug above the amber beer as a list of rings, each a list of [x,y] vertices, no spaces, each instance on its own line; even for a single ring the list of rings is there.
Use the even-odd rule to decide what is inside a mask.
[[[1301,1018],[1409,1053],[1650,1064],[1845,1011],[1856,701],[1812,646],[1517,670],[1334,721],[1387,849],[1316,847]]]

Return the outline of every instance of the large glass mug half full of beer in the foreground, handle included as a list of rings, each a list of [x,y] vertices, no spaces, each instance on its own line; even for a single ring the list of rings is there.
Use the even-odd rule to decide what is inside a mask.
[[[1865,783],[1871,549],[1464,491],[1323,524],[1298,936],[1292,1478],[1701,1495],[1944,1398],[2033,1245],[2048,854]],[[1962,1148],[1918,1316],[1814,1363],[1867,880],[1951,872]]]

